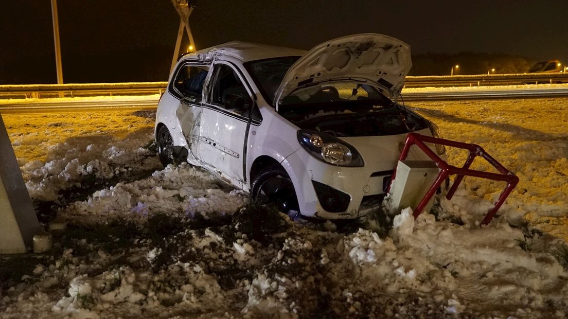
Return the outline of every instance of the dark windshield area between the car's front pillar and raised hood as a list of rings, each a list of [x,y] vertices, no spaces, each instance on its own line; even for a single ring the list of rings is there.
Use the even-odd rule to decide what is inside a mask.
[[[284,75],[299,58],[299,56],[266,58],[246,62],[244,66],[266,102],[273,105],[274,95],[276,95]]]

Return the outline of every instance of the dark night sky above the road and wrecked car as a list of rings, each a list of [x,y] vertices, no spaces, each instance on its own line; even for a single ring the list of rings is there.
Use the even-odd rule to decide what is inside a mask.
[[[163,81],[178,16],[168,0],[58,0],[65,82]],[[309,49],[377,32],[412,53],[568,62],[568,1],[196,0],[198,48],[231,40]],[[0,0],[0,83],[55,83],[49,0]]]

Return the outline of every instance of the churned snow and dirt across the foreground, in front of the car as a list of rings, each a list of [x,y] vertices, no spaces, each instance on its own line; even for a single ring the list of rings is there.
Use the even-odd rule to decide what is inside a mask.
[[[37,266],[28,278],[35,285],[8,289],[0,307],[6,317],[83,318],[550,317],[568,310],[566,271],[546,253],[523,251],[523,233],[504,223],[468,227],[428,214],[414,223],[406,209],[381,238],[285,218],[266,242],[239,232],[234,220],[135,240],[122,253],[82,240],[77,251]]]

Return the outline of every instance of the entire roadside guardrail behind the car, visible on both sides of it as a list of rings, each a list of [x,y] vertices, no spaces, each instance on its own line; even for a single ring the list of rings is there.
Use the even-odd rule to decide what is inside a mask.
[[[404,87],[492,86],[568,83],[568,73],[406,77]],[[168,82],[0,85],[0,99],[162,94]]]

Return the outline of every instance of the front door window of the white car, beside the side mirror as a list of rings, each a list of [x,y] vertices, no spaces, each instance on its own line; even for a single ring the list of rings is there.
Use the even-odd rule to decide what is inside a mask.
[[[217,64],[213,74],[211,102],[225,110],[247,116],[253,101],[235,70],[228,65]]]

